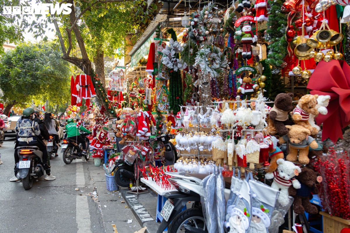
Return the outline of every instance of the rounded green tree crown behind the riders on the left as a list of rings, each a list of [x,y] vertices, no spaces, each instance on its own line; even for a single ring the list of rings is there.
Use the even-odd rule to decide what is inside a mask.
[[[1,58],[0,86],[9,104],[70,101],[69,63],[52,43],[21,43]]]

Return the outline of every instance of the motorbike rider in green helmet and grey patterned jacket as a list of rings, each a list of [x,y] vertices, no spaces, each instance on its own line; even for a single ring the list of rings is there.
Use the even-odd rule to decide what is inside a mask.
[[[34,109],[26,108],[23,110],[22,118],[17,121],[15,132],[17,133],[16,145],[15,145],[15,165],[19,162],[19,156],[17,153],[18,146],[37,146],[42,152],[46,148],[46,146],[42,145],[38,142],[38,136],[40,135],[39,124],[33,121]],[[55,180],[56,177],[50,174],[50,167],[47,164],[47,157],[43,156],[44,169],[46,172],[46,176],[44,180]],[[17,173],[18,169],[14,168],[15,176],[10,179],[10,181],[17,181]]]

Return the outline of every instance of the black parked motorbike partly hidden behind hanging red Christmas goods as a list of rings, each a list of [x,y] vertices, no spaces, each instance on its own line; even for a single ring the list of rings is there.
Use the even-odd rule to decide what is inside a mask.
[[[160,141],[163,143],[165,147],[164,158],[165,158],[165,166],[173,165],[177,161],[177,152],[175,146],[169,141],[174,134],[162,134],[156,138],[151,138],[149,141]],[[116,160],[116,167],[114,167],[114,178],[116,182],[121,187],[129,187],[130,181],[135,181],[135,162],[132,166],[128,165],[124,162],[123,156],[120,156],[118,160]]]

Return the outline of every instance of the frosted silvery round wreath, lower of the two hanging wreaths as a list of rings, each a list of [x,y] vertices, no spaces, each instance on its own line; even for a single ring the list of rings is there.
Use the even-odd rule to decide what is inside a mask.
[[[216,46],[205,46],[197,52],[195,59],[195,65],[199,65],[204,75],[210,74],[212,78],[217,77],[219,73],[222,73],[226,66],[228,66],[228,60],[223,55],[220,48]]]

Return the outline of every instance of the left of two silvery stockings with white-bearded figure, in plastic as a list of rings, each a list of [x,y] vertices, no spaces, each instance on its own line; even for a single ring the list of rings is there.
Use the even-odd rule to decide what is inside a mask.
[[[229,233],[245,233],[249,228],[252,218],[251,190],[246,180],[243,180],[240,190],[236,193],[236,199],[228,206],[226,216],[229,216],[225,223]]]

